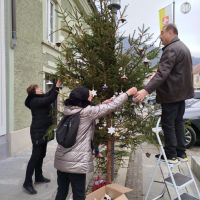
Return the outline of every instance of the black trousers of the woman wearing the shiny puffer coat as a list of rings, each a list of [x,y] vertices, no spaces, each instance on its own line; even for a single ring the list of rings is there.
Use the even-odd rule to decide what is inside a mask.
[[[86,174],[57,171],[58,190],[55,200],[66,200],[71,183],[73,200],[85,200]]]

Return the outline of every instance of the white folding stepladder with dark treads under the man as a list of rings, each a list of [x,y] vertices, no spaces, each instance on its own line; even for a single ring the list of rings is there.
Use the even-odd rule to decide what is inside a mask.
[[[160,169],[161,169],[161,166],[160,166],[161,163],[165,163],[166,164],[166,166],[168,168],[168,172],[169,172],[169,177],[168,178],[164,178],[164,175],[162,173],[164,182],[158,182],[158,183],[164,183],[165,184],[164,188],[162,190],[162,193],[159,194],[158,196],[156,196],[155,198],[153,198],[152,200],[160,199],[161,197],[163,197],[166,189],[167,189],[167,191],[169,193],[168,186],[172,186],[174,188],[176,196],[177,196],[177,198],[175,198],[175,200],[200,200],[200,192],[199,192],[198,186],[197,186],[197,184],[195,182],[195,179],[194,179],[194,176],[192,174],[192,171],[191,171],[191,168],[189,166],[189,163],[188,162],[184,162],[187,165],[187,168],[188,168],[188,171],[189,171],[189,176],[185,176],[182,173],[173,173],[172,172],[173,168],[175,166],[178,166],[178,165],[182,164],[182,162],[179,162],[178,164],[170,164],[170,163],[168,163],[168,160],[167,160],[167,157],[166,157],[166,154],[165,154],[165,151],[164,151],[164,147],[162,145],[162,142],[161,142],[161,139],[160,139],[160,136],[159,136],[159,133],[162,131],[162,128],[160,127],[160,118],[157,121],[156,127],[153,128],[152,131],[156,133],[156,137],[157,137],[157,140],[158,140],[158,143],[159,143],[159,147],[160,147],[160,156],[159,156],[159,158],[157,160],[157,163],[156,163],[156,166],[155,166],[155,169],[154,169],[154,172],[153,172],[153,176],[152,176],[152,179],[151,179],[147,194],[145,196],[145,200],[149,200],[148,197],[149,197],[149,193],[151,191],[151,187],[153,185],[153,182],[158,182],[158,181],[155,181],[154,179],[155,179],[158,167],[160,167]],[[161,156],[162,155],[164,157],[164,160],[161,160]],[[161,170],[161,172],[162,172],[162,170]],[[188,186],[190,184],[194,184],[195,189],[197,191],[198,197],[193,197],[192,195],[188,194],[187,192],[186,193],[182,193],[181,190],[184,189],[186,186]]]

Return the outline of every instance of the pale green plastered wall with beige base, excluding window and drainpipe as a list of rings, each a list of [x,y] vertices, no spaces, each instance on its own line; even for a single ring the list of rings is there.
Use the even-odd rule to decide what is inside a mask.
[[[87,0],[55,0],[55,5],[61,3],[63,8],[68,8],[69,1],[72,6],[86,6],[86,12],[90,9]],[[9,116],[8,116],[8,141],[10,154],[30,146],[29,127],[31,124],[31,113],[24,105],[26,88],[32,84],[39,84],[44,88],[44,72],[54,73],[56,69],[56,58],[60,51],[55,43],[47,40],[47,0],[21,0],[16,1],[17,22],[17,46],[15,49],[9,47]],[[11,15],[10,3],[7,4],[8,16]],[[56,18],[58,29],[61,21]],[[10,40],[11,20],[7,18],[7,37]],[[60,32],[55,33],[55,42],[59,40]]]

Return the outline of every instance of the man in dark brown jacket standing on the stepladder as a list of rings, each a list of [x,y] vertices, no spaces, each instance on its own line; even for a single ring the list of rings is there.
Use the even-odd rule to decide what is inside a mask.
[[[174,24],[163,27],[160,39],[164,45],[156,74],[138,91],[136,99],[156,90],[156,100],[161,104],[161,125],[164,132],[165,154],[170,164],[187,161],[183,115],[185,100],[194,96],[192,58],[189,49],[178,38]],[[159,155],[156,155],[159,158]],[[161,159],[164,160],[163,155]]]

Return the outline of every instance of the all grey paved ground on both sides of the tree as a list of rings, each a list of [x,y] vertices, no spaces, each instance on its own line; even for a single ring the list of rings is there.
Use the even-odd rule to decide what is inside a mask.
[[[57,175],[53,167],[56,146],[56,141],[51,141],[48,144],[47,156],[44,160],[44,175],[50,178],[51,182],[35,185],[38,191],[36,195],[29,195],[25,193],[22,188],[27,162],[31,154],[30,149],[27,150],[27,152],[21,152],[18,156],[0,160],[0,200],[54,200],[57,189]],[[149,158],[146,156],[147,152],[151,154]],[[124,158],[124,165],[119,169],[114,182],[133,189],[133,191],[127,194],[129,200],[144,199],[156,163],[154,155],[157,153],[158,150],[155,146],[144,143],[138,147],[135,152],[132,152],[129,158]],[[188,155],[191,156],[190,151],[188,151]],[[167,168],[165,166],[162,168],[166,174]],[[183,170],[185,170],[185,168],[183,168]],[[88,176],[88,180],[90,180],[91,177],[92,174]],[[162,180],[159,170],[156,179]],[[199,182],[198,185],[200,188]],[[155,197],[162,189],[162,184],[155,183],[151,190],[150,197]],[[189,190],[192,193],[194,192],[193,188],[189,188]],[[172,195],[174,195],[173,191]],[[68,199],[70,198],[71,197]],[[170,199],[167,193],[163,199]]]

